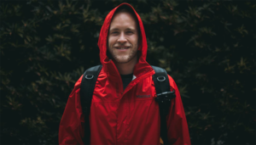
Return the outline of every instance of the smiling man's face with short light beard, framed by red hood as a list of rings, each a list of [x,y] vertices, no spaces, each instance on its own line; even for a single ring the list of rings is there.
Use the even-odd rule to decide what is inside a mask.
[[[115,14],[108,32],[108,51],[120,64],[137,61],[137,21],[126,12]]]

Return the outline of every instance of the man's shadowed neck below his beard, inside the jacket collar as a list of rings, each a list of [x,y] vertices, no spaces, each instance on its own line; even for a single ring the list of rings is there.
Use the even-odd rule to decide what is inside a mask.
[[[136,59],[131,59],[128,63],[118,63],[116,61],[113,61],[113,63],[119,70],[120,75],[129,75],[133,73],[134,66],[137,64],[137,57]]]

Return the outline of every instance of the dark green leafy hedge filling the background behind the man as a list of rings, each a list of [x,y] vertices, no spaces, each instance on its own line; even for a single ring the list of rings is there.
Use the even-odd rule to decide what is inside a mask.
[[[148,63],[177,82],[192,144],[255,145],[254,0],[1,0],[0,144],[58,144],[68,95],[100,64],[103,20],[123,2],[143,20]]]

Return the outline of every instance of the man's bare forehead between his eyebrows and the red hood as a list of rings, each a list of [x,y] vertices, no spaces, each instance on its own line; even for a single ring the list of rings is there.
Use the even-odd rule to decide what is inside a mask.
[[[137,29],[137,20],[128,12],[119,12],[114,14],[110,24],[110,30],[123,27]]]

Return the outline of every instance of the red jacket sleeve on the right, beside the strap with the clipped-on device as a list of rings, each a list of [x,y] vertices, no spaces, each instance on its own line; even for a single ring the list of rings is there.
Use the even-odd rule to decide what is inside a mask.
[[[175,90],[176,98],[172,99],[171,108],[167,115],[168,141],[172,145],[190,145],[189,129],[183,103],[175,81],[169,77],[171,89]]]

